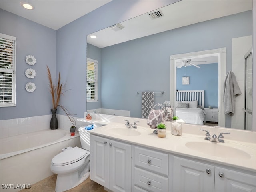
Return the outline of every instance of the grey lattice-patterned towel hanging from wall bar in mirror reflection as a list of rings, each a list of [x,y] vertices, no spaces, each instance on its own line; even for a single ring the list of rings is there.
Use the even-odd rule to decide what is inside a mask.
[[[154,106],[154,92],[142,92],[142,118],[148,118],[150,110]]]

